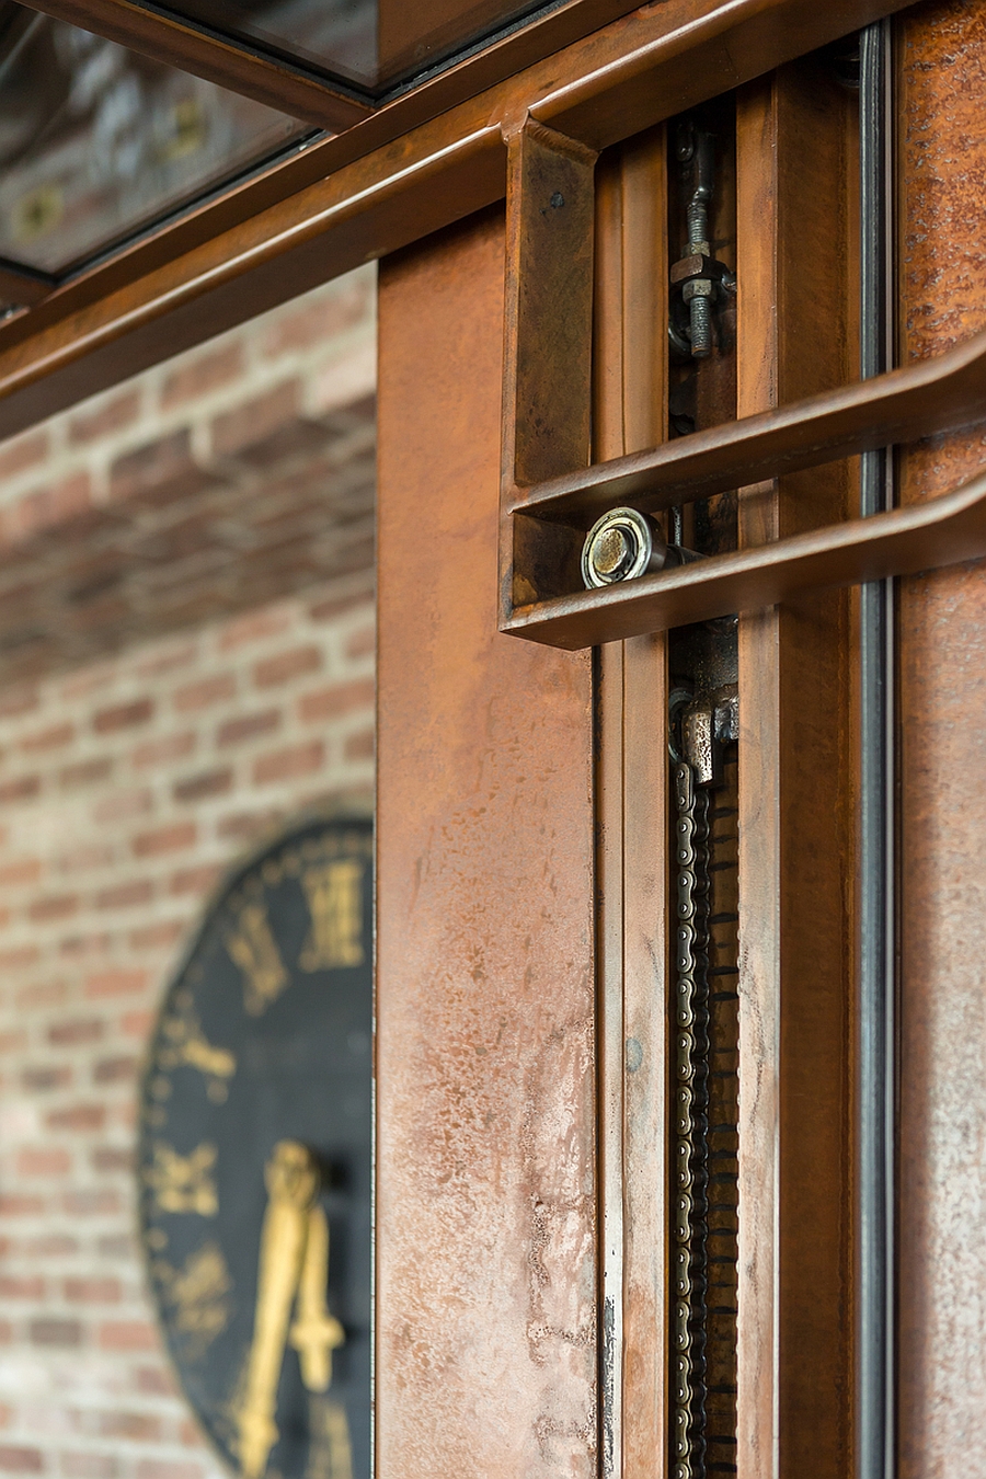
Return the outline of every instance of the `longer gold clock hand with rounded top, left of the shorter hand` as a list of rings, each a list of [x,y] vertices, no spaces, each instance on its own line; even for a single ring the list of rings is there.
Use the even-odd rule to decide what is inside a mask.
[[[260,1231],[257,1304],[247,1392],[237,1415],[239,1464],[245,1479],[262,1479],[278,1439],[275,1423],[284,1346],[307,1241],[307,1217],[319,1174],[312,1152],[281,1140],[265,1168],[268,1207]]]

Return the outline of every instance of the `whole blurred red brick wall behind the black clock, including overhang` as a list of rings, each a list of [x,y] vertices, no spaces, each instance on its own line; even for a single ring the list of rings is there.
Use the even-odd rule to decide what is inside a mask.
[[[371,356],[358,274],[0,447],[0,1475],[222,1472],[145,1296],[135,1087],[223,870],[371,805]]]

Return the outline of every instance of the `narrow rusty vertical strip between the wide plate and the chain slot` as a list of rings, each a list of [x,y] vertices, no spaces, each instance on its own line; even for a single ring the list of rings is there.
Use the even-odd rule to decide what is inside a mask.
[[[596,175],[593,456],[665,433],[664,130]],[[600,1479],[667,1473],[667,981],[664,637],[599,654]]]

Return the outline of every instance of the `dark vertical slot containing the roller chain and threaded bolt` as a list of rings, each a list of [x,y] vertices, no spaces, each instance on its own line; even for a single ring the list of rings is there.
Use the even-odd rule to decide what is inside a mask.
[[[668,436],[736,416],[736,114],[717,98],[668,127]],[[696,201],[701,211],[696,216]],[[687,263],[696,266],[689,268]],[[711,278],[696,352],[681,272]],[[686,280],[687,281],[687,280]],[[698,282],[695,284],[699,285]],[[673,510],[671,538],[736,549],[736,494]],[[668,637],[673,763],[671,1473],[736,1472],[739,914],[736,618]]]

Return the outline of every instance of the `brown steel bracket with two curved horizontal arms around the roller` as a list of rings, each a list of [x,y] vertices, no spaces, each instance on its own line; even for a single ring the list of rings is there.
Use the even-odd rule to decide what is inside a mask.
[[[986,333],[859,385],[585,466],[591,155],[538,126],[510,151],[501,632],[574,651],[986,555],[985,472],[925,503],[584,590],[582,538],[616,504],[655,513],[980,420]],[[557,241],[545,240],[545,222]],[[559,247],[563,299],[537,288],[562,285],[538,274]]]

